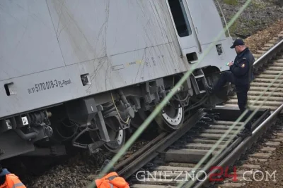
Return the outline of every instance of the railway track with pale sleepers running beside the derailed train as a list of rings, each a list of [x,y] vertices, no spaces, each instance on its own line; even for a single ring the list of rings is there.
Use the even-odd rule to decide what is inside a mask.
[[[209,155],[209,159],[216,155],[212,165],[205,167],[207,163],[195,169],[194,175],[199,175],[197,181],[192,187],[208,187],[212,184],[218,187],[240,187],[242,184],[241,178],[237,181],[231,178],[222,181],[209,180],[208,177],[214,175],[214,178],[223,177],[224,174],[219,173],[219,169],[210,169],[211,166],[218,166],[227,170],[226,167],[231,167],[241,158],[245,156],[247,151],[250,151],[251,146],[258,142],[258,139],[264,135],[267,130],[272,127],[272,124],[277,120],[277,116],[283,109],[283,87],[279,86],[283,74],[279,79],[272,84],[267,92],[273,92],[271,96],[264,94],[259,101],[258,96],[265,91],[266,87],[275,79],[275,77],[283,73],[283,56],[280,54],[283,49],[283,40],[281,32],[278,37],[273,38],[262,49],[258,51],[262,54],[255,54],[255,70],[257,75],[251,84],[250,92],[248,93],[248,104],[250,108],[257,108],[262,102],[265,105],[255,113],[253,118],[253,136],[243,139],[242,137],[233,137],[233,135],[241,129],[243,122],[239,122],[231,132],[224,138],[219,146]],[[255,104],[254,104],[255,103]],[[209,152],[221,136],[225,134],[229,127],[236,121],[240,112],[238,110],[237,98],[232,96],[224,106],[216,106],[210,111],[201,108],[190,113],[190,117],[184,123],[184,126],[171,134],[163,132],[156,139],[152,140],[140,149],[137,153],[127,158],[122,163],[115,166],[117,173],[127,178],[130,187],[177,187],[178,184],[187,178],[189,172],[194,170],[195,165],[204,155]],[[283,133],[279,132],[279,136],[283,137]],[[231,139],[224,151],[217,155],[217,151]],[[255,153],[249,160],[255,161],[267,160],[270,156],[270,151],[275,150],[275,146],[282,142],[282,138],[275,138],[272,142],[267,143],[271,148],[264,148],[262,152]],[[257,165],[242,165],[240,169],[256,169]],[[186,173],[187,172],[187,173]],[[204,180],[204,172],[205,177]],[[224,171],[223,171],[224,172]],[[229,173],[233,173],[233,168],[229,168]],[[200,174],[197,174],[200,173]],[[237,171],[237,175],[241,176],[243,170]],[[190,179],[190,178],[189,178]],[[224,182],[224,184],[223,184]],[[186,182],[185,182],[186,183]],[[186,185],[186,184],[185,184]]]

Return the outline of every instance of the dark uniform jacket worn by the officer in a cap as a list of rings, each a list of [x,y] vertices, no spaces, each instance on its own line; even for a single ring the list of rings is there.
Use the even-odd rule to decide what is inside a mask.
[[[255,58],[248,48],[241,51],[234,60],[230,70],[234,75],[235,85],[247,85],[253,80],[253,63]]]

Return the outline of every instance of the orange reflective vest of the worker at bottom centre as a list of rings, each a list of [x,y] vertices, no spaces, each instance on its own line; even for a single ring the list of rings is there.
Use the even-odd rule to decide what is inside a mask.
[[[96,187],[98,188],[129,188],[129,184],[117,173],[112,172],[102,178],[96,180]]]

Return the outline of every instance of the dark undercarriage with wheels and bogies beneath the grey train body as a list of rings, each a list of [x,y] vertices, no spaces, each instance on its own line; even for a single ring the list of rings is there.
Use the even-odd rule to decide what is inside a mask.
[[[226,101],[227,87],[218,96],[208,96],[204,89],[204,80],[214,83],[219,73],[215,67],[195,70],[156,116],[158,127],[167,132],[178,130],[185,113]],[[126,134],[139,128],[182,76],[171,75],[1,120],[6,124],[2,127],[14,130],[13,137],[20,138],[25,147],[15,145],[19,139],[1,142],[6,149],[0,147],[0,159],[21,154],[57,156],[68,153],[67,148],[96,153],[103,146],[116,153],[125,144]],[[11,131],[2,135],[5,140]]]

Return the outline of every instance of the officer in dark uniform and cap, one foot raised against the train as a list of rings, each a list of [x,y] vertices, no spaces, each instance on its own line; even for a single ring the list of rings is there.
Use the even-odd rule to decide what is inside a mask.
[[[210,87],[207,83],[205,87],[209,93],[219,91],[226,82],[231,82],[236,86],[236,93],[238,98],[238,107],[241,113],[246,110],[248,104],[248,90],[250,89],[250,82],[253,80],[253,63],[255,58],[250,52],[248,47],[242,39],[236,39],[231,46],[231,49],[235,49],[237,56],[234,61],[229,62],[230,71],[226,71],[221,74],[219,81],[214,87]],[[250,111],[246,114],[246,117],[250,115]],[[238,134],[239,137],[251,136],[251,123],[246,124],[245,129]]]

